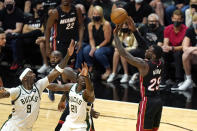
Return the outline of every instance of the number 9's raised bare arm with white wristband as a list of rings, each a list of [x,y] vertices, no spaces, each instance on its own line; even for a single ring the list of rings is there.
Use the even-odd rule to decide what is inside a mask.
[[[73,52],[74,52],[74,48],[75,48],[75,42],[74,40],[71,40],[68,51],[66,56],[64,57],[64,59],[60,62],[60,64],[58,64],[55,67],[55,70],[53,70],[47,77],[49,80],[49,83],[53,82],[59,75],[60,73],[63,73],[64,71],[64,67],[67,65],[68,60],[70,59],[70,56],[72,56]]]

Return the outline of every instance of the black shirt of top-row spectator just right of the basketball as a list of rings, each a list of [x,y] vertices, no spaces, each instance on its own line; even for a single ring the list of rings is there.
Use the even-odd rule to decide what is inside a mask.
[[[124,6],[128,15],[131,16],[135,23],[142,23],[144,17],[148,17],[154,10],[146,2],[143,2],[138,11],[135,8],[135,2],[130,2]]]

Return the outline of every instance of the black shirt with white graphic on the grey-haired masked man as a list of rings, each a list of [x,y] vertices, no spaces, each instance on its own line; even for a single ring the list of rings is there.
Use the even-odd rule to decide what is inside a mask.
[[[163,42],[163,31],[163,26],[159,26],[155,30],[150,29],[148,25],[144,25],[141,28],[139,28],[139,32],[145,38],[145,40],[149,41],[149,43],[151,44],[156,45],[158,42]]]

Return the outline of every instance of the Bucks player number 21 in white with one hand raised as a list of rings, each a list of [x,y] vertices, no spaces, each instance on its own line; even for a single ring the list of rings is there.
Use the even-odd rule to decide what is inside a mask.
[[[89,78],[87,64],[82,65],[82,71],[78,76],[77,83],[65,85],[50,84],[48,89],[61,88],[69,91],[69,115],[66,117],[60,131],[89,131],[90,125],[90,103],[94,102],[94,88]]]

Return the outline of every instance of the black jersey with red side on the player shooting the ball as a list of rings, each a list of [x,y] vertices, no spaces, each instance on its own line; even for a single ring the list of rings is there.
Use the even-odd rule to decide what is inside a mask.
[[[140,93],[141,97],[158,95],[159,84],[162,73],[162,62],[154,63],[147,61],[149,65],[148,74],[144,77],[140,76]]]

